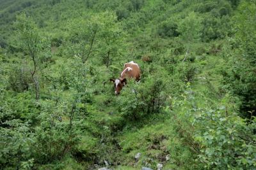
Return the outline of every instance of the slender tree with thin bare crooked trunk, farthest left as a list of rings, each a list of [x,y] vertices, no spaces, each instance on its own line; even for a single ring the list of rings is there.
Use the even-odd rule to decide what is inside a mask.
[[[33,69],[31,70],[31,77],[35,86],[35,98],[36,100],[40,97],[40,89],[38,78],[36,78],[37,71],[37,59],[38,53],[43,49],[43,39],[40,36],[38,27],[31,17],[27,17],[25,13],[17,16],[15,27],[19,33],[20,47],[24,55],[29,55],[33,62]]]

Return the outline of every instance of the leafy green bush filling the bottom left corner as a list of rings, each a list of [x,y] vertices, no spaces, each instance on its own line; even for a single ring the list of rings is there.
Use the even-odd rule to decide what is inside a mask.
[[[6,114],[6,113],[4,113]],[[1,123],[0,127],[0,166],[3,169],[20,169],[25,162],[31,162],[33,133],[28,122],[12,119]],[[33,161],[31,162],[33,163]],[[32,164],[33,165],[33,164]],[[30,166],[32,166],[30,164]]]

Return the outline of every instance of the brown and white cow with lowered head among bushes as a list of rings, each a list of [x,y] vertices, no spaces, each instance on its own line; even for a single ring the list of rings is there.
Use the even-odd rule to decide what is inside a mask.
[[[115,85],[115,94],[120,94],[120,91],[127,84],[127,78],[134,78],[136,81],[140,80],[140,67],[135,62],[127,62],[124,64],[124,69],[120,74],[120,78],[116,80],[110,79]]]

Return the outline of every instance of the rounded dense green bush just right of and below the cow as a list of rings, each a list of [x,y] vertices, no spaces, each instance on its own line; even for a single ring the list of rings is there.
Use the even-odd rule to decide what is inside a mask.
[[[153,76],[141,83],[129,81],[118,97],[118,110],[127,120],[141,120],[149,114],[159,113],[166,99],[164,86],[163,79]]]

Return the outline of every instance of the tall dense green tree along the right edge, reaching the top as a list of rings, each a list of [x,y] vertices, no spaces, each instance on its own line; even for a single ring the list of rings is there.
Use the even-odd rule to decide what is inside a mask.
[[[256,111],[256,5],[243,1],[233,18],[235,27],[234,45],[228,69],[223,71],[224,87],[238,96],[240,110],[245,117]],[[253,114],[252,114],[253,113]]]

